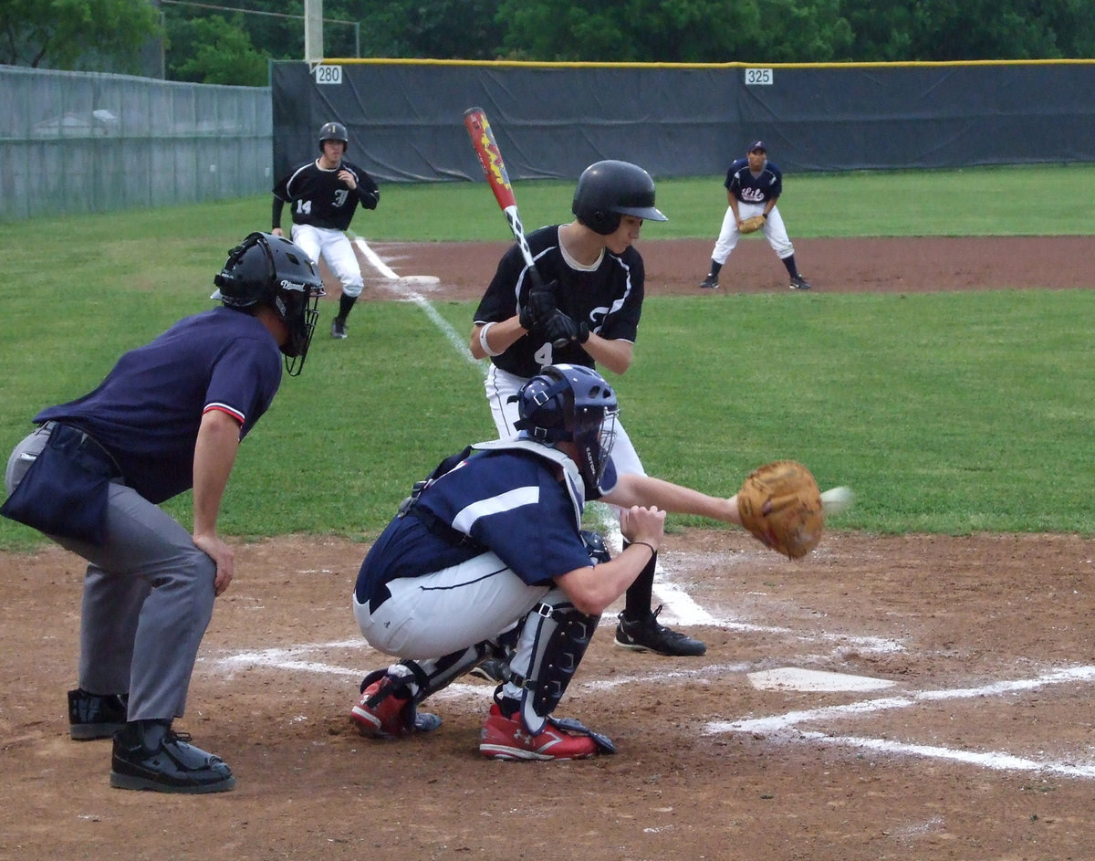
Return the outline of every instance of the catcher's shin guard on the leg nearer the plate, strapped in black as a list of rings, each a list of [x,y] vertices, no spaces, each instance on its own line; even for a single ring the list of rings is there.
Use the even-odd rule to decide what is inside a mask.
[[[549,592],[526,618],[504,693],[519,689],[521,723],[533,735],[563,699],[599,620],[579,612],[562,589]]]

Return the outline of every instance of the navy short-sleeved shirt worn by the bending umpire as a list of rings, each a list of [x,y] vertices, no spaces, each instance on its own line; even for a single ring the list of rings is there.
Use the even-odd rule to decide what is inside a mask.
[[[194,486],[194,446],[207,411],[234,416],[242,438],[280,384],[281,353],[266,326],[219,307],[129,351],[94,391],[34,421],[90,434],[114,456],[128,486],[161,503]]]

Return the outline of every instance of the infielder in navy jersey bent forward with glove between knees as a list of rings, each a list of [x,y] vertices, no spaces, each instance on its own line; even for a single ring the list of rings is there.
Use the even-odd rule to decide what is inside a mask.
[[[792,290],[808,290],[809,283],[798,272],[795,263],[795,246],[791,244],[783,216],[776,200],[783,194],[783,174],[779,167],[768,160],[764,141],[754,140],[749,145],[746,158],[735,161],[726,172],[726,200],[729,206],[723,217],[723,228],[718,231],[715,250],[711,254],[711,271],[700,286],[704,289],[718,288],[718,272],[738,244],[742,233],[760,230],[772,246],[791,276]]]

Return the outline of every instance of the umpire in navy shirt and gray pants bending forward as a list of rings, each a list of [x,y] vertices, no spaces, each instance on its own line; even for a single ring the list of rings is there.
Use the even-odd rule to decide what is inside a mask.
[[[214,279],[222,303],[126,353],[99,387],[34,416],[0,514],[88,561],[74,739],[114,738],[111,785],[223,792],[220,757],[175,733],[214,600],[234,574],[217,535],[237,449],[308,355],[323,287],[289,240],[252,233]],[[284,354],[284,355],[283,355]],[[194,490],[194,531],[159,504]]]

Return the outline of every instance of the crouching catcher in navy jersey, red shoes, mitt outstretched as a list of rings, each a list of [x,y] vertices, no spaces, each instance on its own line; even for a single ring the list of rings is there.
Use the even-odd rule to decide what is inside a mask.
[[[780,461],[730,498],[636,473],[610,452],[616,398],[593,369],[550,365],[518,394],[520,435],[480,443],[418,482],[369,550],[354,616],[373,648],[400,658],[361,682],[364,735],[436,730],[418,704],[476,664],[515,648],[480,734],[493,759],[585,759],[612,743],[554,716],[600,615],[661,543],[666,512],[744,525],[798,558],[821,537],[817,483]],[[581,530],[587,500],[622,509],[629,543],[610,559]]]

